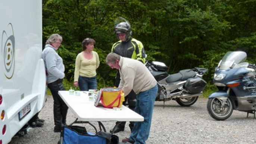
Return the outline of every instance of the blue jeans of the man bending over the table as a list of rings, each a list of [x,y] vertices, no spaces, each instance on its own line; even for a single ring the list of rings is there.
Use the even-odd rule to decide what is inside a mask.
[[[143,122],[134,122],[134,127],[130,136],[130,141],[134,144],[146,144],[149,138],[149,131],[153,115],[154,101],[156,99],[158,87],[140,92],[136,97],[136,106],[134,111],[144,117]]]

